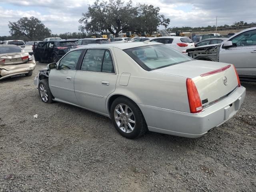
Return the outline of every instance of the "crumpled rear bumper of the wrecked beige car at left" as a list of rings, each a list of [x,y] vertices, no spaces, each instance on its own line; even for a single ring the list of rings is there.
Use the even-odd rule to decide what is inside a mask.
[[[34,60],[24,64],[0,66],[0,79],[18,75],[18,74],[26,74],[34,70],[35,67],[36,67],[36,62]]]

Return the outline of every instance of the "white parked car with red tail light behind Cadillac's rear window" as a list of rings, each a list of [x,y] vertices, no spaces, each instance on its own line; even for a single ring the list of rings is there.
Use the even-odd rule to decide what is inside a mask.
[[[150,42],[158,42],[163,43],[171,48],[178,50],[179,52],[186,53],[188,48],[194,48],[194,42],[188,37],[177,37],[177,36],[169,36],[169,37],[157,37],[150,40]]]

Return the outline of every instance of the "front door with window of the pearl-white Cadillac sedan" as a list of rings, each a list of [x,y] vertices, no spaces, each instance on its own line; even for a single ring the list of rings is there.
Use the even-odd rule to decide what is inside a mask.
[[[58,69],[53,69],[49,74],[49,86],[55,99],[78,104],[74,92],[74,78],[76,66],[83,50],[69,52],[58,63]]]

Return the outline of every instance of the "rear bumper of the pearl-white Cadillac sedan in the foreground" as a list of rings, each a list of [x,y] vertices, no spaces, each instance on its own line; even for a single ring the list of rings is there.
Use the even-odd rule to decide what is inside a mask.
[[[245,94],[246,89],[242,86],[238,87],[227,98],[205,108],[198,114],[138,105],[150,131],[197,138],[232,118],[244,102]]]

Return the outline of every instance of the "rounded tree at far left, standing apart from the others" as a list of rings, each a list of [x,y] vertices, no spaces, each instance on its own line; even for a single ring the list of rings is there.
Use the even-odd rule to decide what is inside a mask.
[[[51,30],[35,17],[23,17],[17,22],[9,22],[12,36],[26,36],[30,40],[39,40],[51,35]]]

